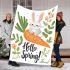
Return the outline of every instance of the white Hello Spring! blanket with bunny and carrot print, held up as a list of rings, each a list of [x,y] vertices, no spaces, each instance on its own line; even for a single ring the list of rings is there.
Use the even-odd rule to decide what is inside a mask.
[[[49,10],[17,7],[11,35],[11,61],[50,65],[55,37],[57,6]]]

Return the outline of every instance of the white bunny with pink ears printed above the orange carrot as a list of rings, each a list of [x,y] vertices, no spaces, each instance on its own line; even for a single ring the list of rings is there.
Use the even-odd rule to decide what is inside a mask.
[[[43,15],[44,13],[42,12],[39,16],[39,19],[38,21],[36,22],[35,21],[35,13],[32,12],[32,22],[31,24],[29,25],[29,31],[31,33],[34,33],[35,35],[39,35],[41,33],[41,20],[43,19]]]

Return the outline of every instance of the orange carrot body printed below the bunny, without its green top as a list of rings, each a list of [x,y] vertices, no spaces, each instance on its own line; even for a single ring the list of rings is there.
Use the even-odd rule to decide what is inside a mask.
[[[30,33],[29,30],[25,30],[24,37],[26,40],[30,42],[50,48],[47,42],[43,41],[39,36],[36,36],[33,33]]]

